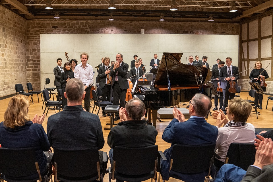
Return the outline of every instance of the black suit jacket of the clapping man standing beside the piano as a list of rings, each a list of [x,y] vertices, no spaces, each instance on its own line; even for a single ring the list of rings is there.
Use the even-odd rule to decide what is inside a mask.
[[[119,82],[120,89],[127,89],[129,88],[129,83],[127,80],[127,72],[129,65],[127,63],[122,62],[121,65],[114,71],[114,64],[111,66],[111,72],[109,73],[110,76],[113,76],[112,86],[115,82],[116,72],[118,71],[117,78]]]

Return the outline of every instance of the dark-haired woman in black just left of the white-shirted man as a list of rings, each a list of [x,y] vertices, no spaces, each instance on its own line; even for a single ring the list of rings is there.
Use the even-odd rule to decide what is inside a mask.
[[[63,70],[64,72],[62,73],[61,76],[61,85],[63,88],[63,93],[65,93],[65,86],[66,82],[68,82],[69,79],[75,78],[74,77],[74,72],[71,69],[71,64],[69,62],[66,62],[65,65],[63,65]],[[64,94],[62,96],[63,104],[62,106],[67,106],[67,99],[65,98]]]

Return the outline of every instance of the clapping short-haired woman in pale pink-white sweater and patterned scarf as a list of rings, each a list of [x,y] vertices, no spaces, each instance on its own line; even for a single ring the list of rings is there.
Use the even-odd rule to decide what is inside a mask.
[[[216,127],[219,130],[215,149],[216,153],[221,157],[219,160],[214,160],[217,170],[224,165],[231,143],[254,143],[255,128],[251,123],[246,123],[251,109],[249,102],[236,97],[229,101],[228,109],[226,109],[228,118],[226,118],[222,110],[214,111],[214,118],[218,114]],[[223,124],[224,127],[221,127]]]

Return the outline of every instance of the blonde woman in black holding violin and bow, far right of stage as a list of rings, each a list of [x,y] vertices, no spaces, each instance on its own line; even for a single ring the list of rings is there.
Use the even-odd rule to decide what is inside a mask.
[[[251,71],[249,78],[253,80],[253,82],[259,83],[265,92],[267,86],[265,83],[265,79],[268,78],[268,74],[266,70],[262,68],[262,63],[260,61],[256,61],[254,69]],[[259,109],[262,109],[262,99],[262,94],[255,95],[255,105]]]

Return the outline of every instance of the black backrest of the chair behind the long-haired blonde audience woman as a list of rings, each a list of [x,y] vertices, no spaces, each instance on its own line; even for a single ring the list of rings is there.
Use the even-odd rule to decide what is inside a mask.
[[[0,148],[0,173],[5,178],[37,173],[35,162],[37,159],[33,148]]]

